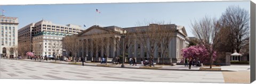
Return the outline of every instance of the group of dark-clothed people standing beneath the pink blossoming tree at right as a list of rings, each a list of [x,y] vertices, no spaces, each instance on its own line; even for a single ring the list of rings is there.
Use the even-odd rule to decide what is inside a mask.
[[[196,61],[195,59],[192,59],[192,58],[186,58],[185,59],[185,67],[188,67],[188,69],[191,69],[191,66],[198,66],[200,67],[201,66],[201,63],[199,61],[199,59]]]

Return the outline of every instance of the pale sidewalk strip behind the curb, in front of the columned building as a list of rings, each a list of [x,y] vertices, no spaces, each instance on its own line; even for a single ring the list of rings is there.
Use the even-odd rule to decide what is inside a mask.
[[[35,61],[35,60],[30,60],[30,59],[22,59],[24,61]],[[39,62],[38,60],[35,62]],[[71,62],[66,62],[66,61],[54,61],[54,60],[48,60],[48,61],[41,61],[41,62],[48,62],[48,63],[60,63],[60,64],[69,64]],[[77,66],[82,66],[82,62],[77,62],[79,64],[74,64]],[[84,66],[97,66],[97,64],[100,64],[99,62],[84,62]],[[113,63],[107,63],[109,65],[108,67],[114,67],[114,68],[121,68],[121,64],[113,64]],[[125,63],[124,64],[125,68],[133,68],[133,69],[145,69],[145,68],[140,68],[142,67],[141,64],[137,64],[137,66],[132,66],[130,64]],[[97,66],[97,67],[105,67],[105,66]],[[106,66],[107,67],[107,66]],[[195,67],[191,66],[191,69],[188,69],[188,67],[185,67],[183,65],[176,65],[176,66],[170,66],[170,65],[155,65],[155,67],[162,67],[158,68],[157,70],[185,70],[185,71],[250,71],[250,66],[249,69],[247,69],[248,66],[221,66],[221,67],[212,67],[212,68],[221,68],[221,70],[199,70],[201,67]],[[207,67],[204,67],[207,68]]]

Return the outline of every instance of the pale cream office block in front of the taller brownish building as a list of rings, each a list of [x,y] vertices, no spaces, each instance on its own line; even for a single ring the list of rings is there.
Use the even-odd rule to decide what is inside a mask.
[[[41,32],[35,34],[33,38],[34,54],[60,58],[62,56],[62,38],[67,35],[72,34],[57,32]]]

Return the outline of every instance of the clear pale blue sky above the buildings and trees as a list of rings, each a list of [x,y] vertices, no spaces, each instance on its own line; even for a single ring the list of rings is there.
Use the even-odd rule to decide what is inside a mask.
[[[43,19],[61,25],[86,25],[83,30],[96,24],[134,27],[138,23],[164,22],[185,26],[190,37],[194,36],[191,22],[204,16],[219,18],[232,5],[250,13],[250,1],[1,5],[0,9],[5,10],[5,16],[19,18],[19,29]]]

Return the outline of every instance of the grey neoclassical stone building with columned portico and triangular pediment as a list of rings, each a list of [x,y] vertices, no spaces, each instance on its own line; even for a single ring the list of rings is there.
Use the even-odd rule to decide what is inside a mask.
[[[158,24],[154,24],[158,25]],[[151,26],[151,24],[149,25]],[[108,58],[115,58],[116,56],[121,56],[123,51],[123,39],[122,34],[123,31],[127,31],[127,34],[131,34],[132,32],[138,30],[147,30],[149,26],[136,26],[136,27],[126,27],[121,28],[117,26],[108,26],[101,27],[98,25],[91,26],[89,29],[78,34],[78,40],[84,41],[84,45],[82,46],[81,52],[78,55],[87,56],[87,61],[92,60],[93,57],[93,39],[102,38],[103,44],[107,45],[107,47],[100,47],[101,49],[95,55],[95,60],[99,60],[100,57],[107,56]],[[187,33],[184,26],[178,26],[175,24],[167,24],[164,25],[170,29],[174,29],[173,38],[168,44],[167,50],[164,54],[165,63],[179,63],[182,60],[181,49],[186,48],[189,45],[189,39],[187,37]],[[126,35],[127,36],[127,35]],[[135,36],[136,37],[136,36]],[[125,55],[126,57],[135,57],[137,62],[140,61],[141,58],[149,58],[149,54],[145,50],[145,47],[141,44],[138,38],[129,38],[125,39]],[[128,41],[128,42],[127,42]],[[127,44],[130,43],[130,44]],[[101,45],[102,43],[99,43]],[[121,46],[120,46],[121,45]],[[128,46],[129,45],[129,46]],[[159,49],[154,51],[154,59],[155,62],[162,62],[161,52]]]

